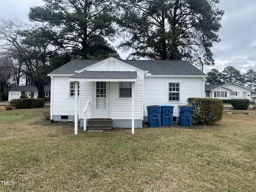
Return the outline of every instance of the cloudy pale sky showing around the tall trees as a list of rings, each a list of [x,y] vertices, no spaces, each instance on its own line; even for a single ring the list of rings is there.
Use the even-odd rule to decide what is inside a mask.
[[[42,4],[42,0],[7,0],[1,3],[0,17],[27,21],[29,8]],[[256,71],[256,0],[220,0],[217,6],[225,11],[219,31],[221,42],[211,49],[215,65],[205,67],[204,72],[212,68],[222,71],[227,66],[241,73]],[[119,54],[123,59],[127,56]]]

